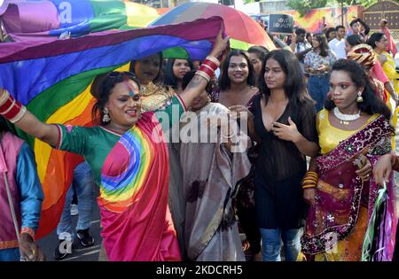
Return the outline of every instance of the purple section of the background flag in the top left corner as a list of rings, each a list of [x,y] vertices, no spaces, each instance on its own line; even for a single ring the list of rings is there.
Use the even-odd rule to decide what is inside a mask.
[[[50,1],[9,4],[2,18],[5,32],[8,34],[42,32],[59,28],[57,8]]]

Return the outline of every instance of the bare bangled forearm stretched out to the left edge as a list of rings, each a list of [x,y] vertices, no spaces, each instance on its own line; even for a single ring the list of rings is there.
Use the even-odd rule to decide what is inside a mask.
[[[5,89],[0,89],[2,92],[0,97],[0,114],[5,119],[10,120],[18,128],[29,134],[35,136],[51,146],[56,146],[59,142],[59,131],[55,125],[48,125],[41,120],[35,118],[31,112],[27,111],[24,105],[14,99],[10,93]]]

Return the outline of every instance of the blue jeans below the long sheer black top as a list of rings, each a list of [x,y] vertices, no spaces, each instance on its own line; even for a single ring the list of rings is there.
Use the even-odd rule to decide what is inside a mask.
[[[262,235],[262,260],[281,261],[281,239],[286,261],[295,261],[301,251],[300,229],[260,229]]]

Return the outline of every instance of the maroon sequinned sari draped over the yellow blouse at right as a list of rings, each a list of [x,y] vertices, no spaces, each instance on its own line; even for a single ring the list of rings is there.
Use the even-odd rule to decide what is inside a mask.
[[[361,260],[364,234],[379,190],[371,179],[363,182],[354,160],[364,154],[372,163],[391,151],[391,130],[383,116],[372,120],[332,151],[317,158],[318,182],[315,204],[309,207],[301,237],[302,252],[315,260]],[[379,240],[384,260],[395,247],[395,189],[387,185],[386,234]]]

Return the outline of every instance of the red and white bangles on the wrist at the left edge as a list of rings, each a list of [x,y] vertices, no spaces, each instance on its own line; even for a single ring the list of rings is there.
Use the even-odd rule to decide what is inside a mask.
[[[10,122],[15,123],[21,120],[26,112],[25,105],[20,104],[6,89],[3,89],[0,97],[0,114]]]

